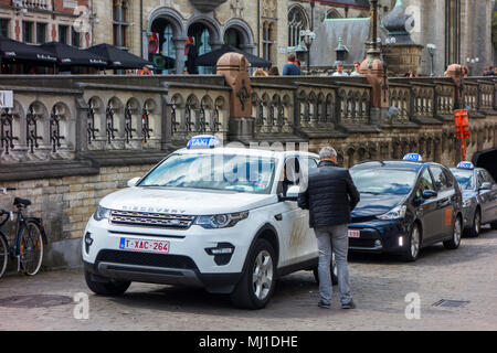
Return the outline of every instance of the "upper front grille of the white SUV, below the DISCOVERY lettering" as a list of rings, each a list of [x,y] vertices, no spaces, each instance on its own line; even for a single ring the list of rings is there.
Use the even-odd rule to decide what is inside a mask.
[[[110,212],[110,223],[116,225],[134,225],[141,227],[158,227],[188,229],[194,216],[163,214],[150,212],[115,211]]]

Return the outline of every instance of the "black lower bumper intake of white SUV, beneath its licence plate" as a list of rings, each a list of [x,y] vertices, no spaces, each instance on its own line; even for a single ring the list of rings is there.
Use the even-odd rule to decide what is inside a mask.
[[[108,249],[101,250],[95,263],[113,263],[121,265],[151,266],[175,269],[197,269],[195,263],[188,256]]]

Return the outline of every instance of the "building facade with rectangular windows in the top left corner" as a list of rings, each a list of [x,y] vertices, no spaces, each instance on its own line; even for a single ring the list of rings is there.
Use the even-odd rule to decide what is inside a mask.
[[[92,43],[91,0],[0,0],[0,34],[43,44],[62,42],[78,47]]]

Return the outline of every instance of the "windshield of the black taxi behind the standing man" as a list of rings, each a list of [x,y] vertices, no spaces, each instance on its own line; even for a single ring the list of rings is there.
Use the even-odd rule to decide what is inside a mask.
[[[353,183],[360,193],[406,195],[416,181],[416,172],[394,169],[351,169]]]

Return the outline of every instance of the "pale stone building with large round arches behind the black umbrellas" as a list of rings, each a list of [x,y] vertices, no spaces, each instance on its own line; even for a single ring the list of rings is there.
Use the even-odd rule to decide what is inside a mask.
[[[283,66],[289,51],[300,44],[299,31],[311,29],[326,17],[367,17],[368,2],[292,0],[103,0],[94,1],[95,43],[112,42],[134,54],[154,60],[156,54],[172,58],[163,73],[182,73],[186,51],[193,38],[198,54],[223,44]],[[349,3],[349,4],[346,4]],[[113,33],[109,30],[113,29]],[[150,42],[158,42],[150,49]],[[151,53],[150,53],[151,52]]]

